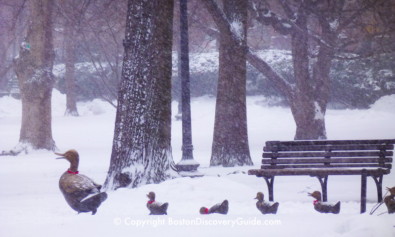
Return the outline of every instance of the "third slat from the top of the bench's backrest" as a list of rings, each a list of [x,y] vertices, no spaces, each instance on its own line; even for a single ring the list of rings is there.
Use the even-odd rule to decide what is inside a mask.
[[[284,152],[263,153],[263,158],[308,158],[308,157],[392,157],[392,151],[382,152]]]

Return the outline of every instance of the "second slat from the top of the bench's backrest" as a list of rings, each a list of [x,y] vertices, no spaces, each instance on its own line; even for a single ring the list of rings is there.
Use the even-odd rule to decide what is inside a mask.
[[[270,146],[264,147],[264,152],[303,152],[303,151],[391,151],[394,145],[317,145],[317,146]]]

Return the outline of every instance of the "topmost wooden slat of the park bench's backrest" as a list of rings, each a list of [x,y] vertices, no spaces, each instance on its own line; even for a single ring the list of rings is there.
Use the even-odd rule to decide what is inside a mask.
[[[309,145],[363,145],[395,144],[395,139],[382,140],[306,140],[306,141],[267,141],[266,146],[309,146]]]

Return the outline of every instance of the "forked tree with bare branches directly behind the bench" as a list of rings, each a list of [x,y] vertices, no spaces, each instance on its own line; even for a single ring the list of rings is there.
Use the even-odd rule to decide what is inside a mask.
[[[279,34],[291,35],[295,85],[289,86],[283,83],[276,74],[268,73],[268,70],[259,67],[260,63],[251,62],[250,59],[257,61],[251,56],[249,62],[254,67],[258,66],[259,71],[275,81],[277,88],[287,97],[296,123],[294,139],[326,139],[325,112],[329,97],[329,70],[334,55],[332,47],[328,44],[333,45],[333,33],[326,26],[322,27],[325,29],[321,30],[317,62],[312,77],[309,72],[311,36],[307,29],[308,18],[313,14],[312,6],[308,1],[302,1],[297,11],[293,12],[289,2],[282,1],[280,4],[288,19],[278,17],[269,9],[257,9],[257,5],[254,4],[250,4],[249,7],[256,12],[259,22],[272,25]],[[333,7],[327,9],[331,8]],[[315,13],[320,14],[317,10]],[[325,23],[327,23],[326,18],[320,21],[321,25]]]

